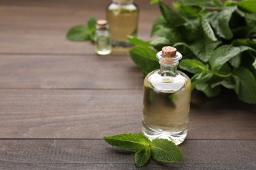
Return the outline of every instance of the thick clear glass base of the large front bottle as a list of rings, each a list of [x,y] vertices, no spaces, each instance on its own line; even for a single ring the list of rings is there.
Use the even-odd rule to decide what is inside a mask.
[[[142,134],[150,141],[154,139],[167,139],[168,141],[172,141],[176,145],[181,144],[186,139],[186,135],[188,133],[188,129],[184,128],[182,131],[157,131],[150,127],[148,127],[144,122],[142,122]]]

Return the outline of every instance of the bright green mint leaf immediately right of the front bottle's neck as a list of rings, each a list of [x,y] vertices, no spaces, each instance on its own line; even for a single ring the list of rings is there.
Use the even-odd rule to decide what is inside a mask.
[[[179,67],[190,73],[202,73],[202,71],[207,70],[208,66],[204,65],[201,61],[197,59],[182,59]]]

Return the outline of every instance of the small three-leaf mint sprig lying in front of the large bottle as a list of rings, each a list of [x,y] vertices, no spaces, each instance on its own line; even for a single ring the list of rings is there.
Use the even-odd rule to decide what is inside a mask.
[[[135,164],[142,167],[148,160],[163,163],[183,161],[182,152],[177,145],[167,139],[154,139],[152,142],[141,133],[123,133],[104,137],[106,143],[135,153]]]

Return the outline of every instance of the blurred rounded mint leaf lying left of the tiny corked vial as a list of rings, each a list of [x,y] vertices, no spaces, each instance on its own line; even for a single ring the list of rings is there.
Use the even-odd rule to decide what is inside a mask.
[[[70,28],[66,34],[66,38],[71,41],[88,41],[90,40],[90,35],[86,25],[75,25]]]

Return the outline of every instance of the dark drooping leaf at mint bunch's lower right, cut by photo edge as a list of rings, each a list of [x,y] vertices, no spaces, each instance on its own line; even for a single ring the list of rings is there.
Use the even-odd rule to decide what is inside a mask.
[[[256,80],[253,73],[244,67],[239,67],[233,73],[235,92],[245,103],[256,104]]]

